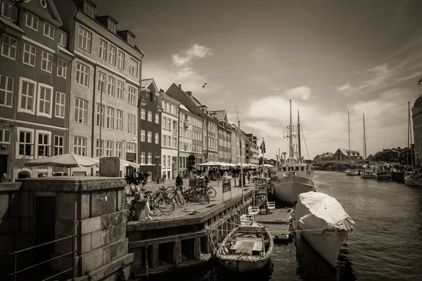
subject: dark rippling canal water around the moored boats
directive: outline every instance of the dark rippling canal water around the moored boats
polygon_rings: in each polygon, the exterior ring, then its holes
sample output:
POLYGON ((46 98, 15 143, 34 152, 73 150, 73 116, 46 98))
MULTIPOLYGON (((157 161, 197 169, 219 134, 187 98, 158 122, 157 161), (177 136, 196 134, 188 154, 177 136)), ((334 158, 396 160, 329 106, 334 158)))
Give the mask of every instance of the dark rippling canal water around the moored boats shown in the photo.
POLYGON ((336 171, 314 171, 314 183, 316 191, 335 197, 355 223, 337 270, 299 240, 276 244, 271 269, 259 275, 231 275, 210 265, 149 280, 421 280, 422 187, 336 171))

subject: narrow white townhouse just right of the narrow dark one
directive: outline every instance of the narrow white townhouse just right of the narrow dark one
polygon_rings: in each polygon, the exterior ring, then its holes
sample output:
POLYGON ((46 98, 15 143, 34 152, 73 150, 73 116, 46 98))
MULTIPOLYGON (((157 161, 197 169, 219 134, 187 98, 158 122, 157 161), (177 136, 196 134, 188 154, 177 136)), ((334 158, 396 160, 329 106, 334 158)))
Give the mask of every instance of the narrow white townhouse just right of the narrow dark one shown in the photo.
MULTIPOLYGON (((160 98, 162 107, 161 174, 170 179, 177 177, 180 103, 174 98, 165 95, 162 90, 160 90, 160 98)), ((155 133, 155 137, 158 138, 158 133, 155 133)))

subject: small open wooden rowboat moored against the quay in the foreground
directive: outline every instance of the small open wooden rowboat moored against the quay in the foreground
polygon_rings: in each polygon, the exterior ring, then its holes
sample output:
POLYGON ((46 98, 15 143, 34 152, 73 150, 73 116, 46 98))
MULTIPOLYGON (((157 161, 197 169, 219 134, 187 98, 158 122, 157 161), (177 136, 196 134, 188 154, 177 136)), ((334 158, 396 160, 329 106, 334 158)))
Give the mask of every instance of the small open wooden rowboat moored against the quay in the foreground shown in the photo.
MULTIPOLYGON (((250 215, 243 215, 245 216, 250 215)), ((253 216, 252 216, 253 217, 253 216)), ((248 273, 264 268, 274 249, 273 237, 264 226, 252 219, 241 219, 217 249, 217 260, 231 272, 248 273)))

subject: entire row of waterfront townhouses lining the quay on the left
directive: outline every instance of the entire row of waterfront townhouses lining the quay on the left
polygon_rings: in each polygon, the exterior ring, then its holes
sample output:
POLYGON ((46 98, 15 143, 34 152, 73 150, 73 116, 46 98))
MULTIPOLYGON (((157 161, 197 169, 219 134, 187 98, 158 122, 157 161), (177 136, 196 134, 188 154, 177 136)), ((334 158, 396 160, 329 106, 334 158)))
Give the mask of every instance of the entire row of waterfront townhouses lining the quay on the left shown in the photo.
POLYGON ((68 152, 135 162, 149 180, 186 174, 190 155, 196 165, 257 164, 256 137, 225 110, 210 111, 181 85, 164 92, 141 79, 143 52, 117 27, 90 0, 1 0, 0 174, 51 175, 60 170, 25 162, 68 152))

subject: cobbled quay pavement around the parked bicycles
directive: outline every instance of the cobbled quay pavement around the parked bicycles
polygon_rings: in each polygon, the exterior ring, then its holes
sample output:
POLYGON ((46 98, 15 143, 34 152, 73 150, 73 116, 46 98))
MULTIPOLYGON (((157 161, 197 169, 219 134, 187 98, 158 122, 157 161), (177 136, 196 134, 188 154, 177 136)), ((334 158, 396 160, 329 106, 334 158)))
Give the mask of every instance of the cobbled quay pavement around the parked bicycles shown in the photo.
MULTIPOLYGON (((164 185, 165 187, 169 187, 172 185, 175 185, 175 180, 166 181, 165 183, 148 183, 146 185, 146 190, 158 190, 158 188, 162 187, 164 185)), ((170 216, 165 216, 161 214, 160 210, 155 209, 153 210, 153 220, 169 220, 173 218, 181 218, 181 217, 188 217, 192 215, 198 215, 203 211, 210 211, 211 209, 217 207, 219 204, 223 202, 223 192, 222 192, 222 183, 219 183, 219 186, 217 186, 217 181, 211 181, 210 187, 215 188, 217 195, 213 198, 210 198, 210 203, 201 205, 199 203, 193 203, 193 202, 186 202, 186 207, 180 208, 177 206, 177 204, 174 204, 174 211, 170 216)), ((188 179, 184 179, 184 187, 188 187, 188 179)), ((247 192, 248 190, 252 189, 252 184, 247 184, 243 188, 243 192, 247 192)), ((234 187, 231 188, 231 192, 224 192, 224 202, 227 200, 230 200, 231 198, 238 197, 242 195, 242 189, 241 187, 234 187)), ((133 199, 133 197, 127 197, 127 201, 130 202, 133 199)), ((142 223, 142 221, 133 221, 132 223, 142 223)))

